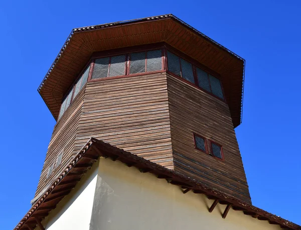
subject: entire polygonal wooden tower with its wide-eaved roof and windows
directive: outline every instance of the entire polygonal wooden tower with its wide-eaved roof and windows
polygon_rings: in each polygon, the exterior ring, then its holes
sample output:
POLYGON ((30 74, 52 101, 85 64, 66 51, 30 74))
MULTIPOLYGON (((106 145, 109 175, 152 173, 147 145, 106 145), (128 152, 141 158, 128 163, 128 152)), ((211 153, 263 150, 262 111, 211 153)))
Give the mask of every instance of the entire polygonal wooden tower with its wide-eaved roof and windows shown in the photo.
POLYGON ((36 196, 91 138, 251 203, 244 60, 173 15, 74 29, 38 91, 57 124, 36 196))

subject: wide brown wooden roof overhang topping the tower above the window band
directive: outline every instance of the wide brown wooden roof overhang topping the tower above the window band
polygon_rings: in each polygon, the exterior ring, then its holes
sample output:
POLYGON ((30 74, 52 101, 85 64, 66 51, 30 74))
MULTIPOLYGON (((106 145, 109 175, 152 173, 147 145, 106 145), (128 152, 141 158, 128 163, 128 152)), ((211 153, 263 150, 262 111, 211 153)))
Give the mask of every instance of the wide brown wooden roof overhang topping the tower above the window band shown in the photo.
POLYGON ((39 93, 57 120, 64 94, 92 54, 166 42, 219 73, 234 127, 241 123, 245 61, 173 15, 73 29, 41 85, 39 93))

